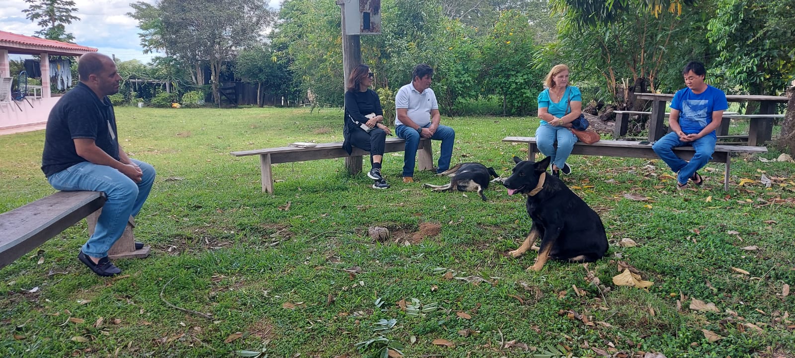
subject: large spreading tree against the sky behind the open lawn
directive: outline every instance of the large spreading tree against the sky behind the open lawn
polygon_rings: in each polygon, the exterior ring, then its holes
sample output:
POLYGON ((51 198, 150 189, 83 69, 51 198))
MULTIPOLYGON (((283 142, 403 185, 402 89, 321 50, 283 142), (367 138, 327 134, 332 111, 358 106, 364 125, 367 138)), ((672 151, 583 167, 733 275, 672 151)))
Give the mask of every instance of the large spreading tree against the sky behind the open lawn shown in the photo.
POLYGON ((198 85, 204 84, 202 63, 207 61, 216 103, 223 63, 260 40, 273 18, 264 0, 160 0, 153 6, 137 2, 133 8, 130 16, 142 25, 142 44, 193 64, 198 85))

